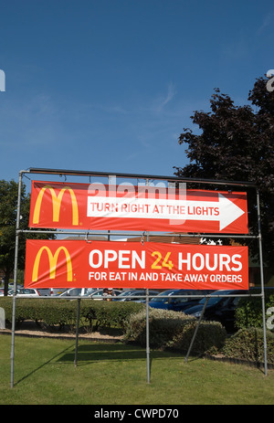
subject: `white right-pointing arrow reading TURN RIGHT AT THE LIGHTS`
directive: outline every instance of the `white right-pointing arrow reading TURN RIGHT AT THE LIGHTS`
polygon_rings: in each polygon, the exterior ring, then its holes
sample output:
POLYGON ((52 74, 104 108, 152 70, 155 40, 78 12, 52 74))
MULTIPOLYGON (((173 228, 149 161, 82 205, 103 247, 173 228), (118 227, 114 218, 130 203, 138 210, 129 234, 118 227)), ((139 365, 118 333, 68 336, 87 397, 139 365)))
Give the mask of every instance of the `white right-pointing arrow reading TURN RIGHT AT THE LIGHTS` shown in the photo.
POLYGON ((185 220, 212 220, 218 221, 222 230, 245 212, 220 193, 218 200, 88 196, 87 216, 169 219, 171 225, 185 220))

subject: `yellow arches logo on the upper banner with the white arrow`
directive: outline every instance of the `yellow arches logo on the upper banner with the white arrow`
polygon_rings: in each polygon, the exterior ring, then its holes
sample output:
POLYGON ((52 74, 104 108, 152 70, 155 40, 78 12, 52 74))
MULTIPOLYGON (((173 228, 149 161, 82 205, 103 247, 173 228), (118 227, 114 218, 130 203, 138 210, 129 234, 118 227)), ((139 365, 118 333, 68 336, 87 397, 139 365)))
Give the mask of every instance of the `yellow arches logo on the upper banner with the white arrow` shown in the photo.
POLYGON ((34 214, 33 214, 33 223, 34 224, 39 223, 39 216, 40 216, 42 198, 45 194, 46 189, 49 189, 49 192, 50 192, 51 198, 52 198, 52 208, 53 208, 53 218, 52 218, 52 220, 53 220, 53 222, 59 221, 60 206, 61 206, 62 198, 64 196, 65 191, 68 190, 68 192, 70 194, 70 198, 71 198, 71 205, 72 205, 72 225, 78 226, 79 225, 78 204, 77 204, 76 196, 75 196, 73 190, 70 188, 70 186, 64 186, 64 188, 62 188, 60 190, 60 192, 58 193, 58 196, 56 195, 56 192, 51 185, 43 186, 43 188, 40 189, 40 192, 37 196, 37 202, 36 202, 36 206, 35 206, 34 214))

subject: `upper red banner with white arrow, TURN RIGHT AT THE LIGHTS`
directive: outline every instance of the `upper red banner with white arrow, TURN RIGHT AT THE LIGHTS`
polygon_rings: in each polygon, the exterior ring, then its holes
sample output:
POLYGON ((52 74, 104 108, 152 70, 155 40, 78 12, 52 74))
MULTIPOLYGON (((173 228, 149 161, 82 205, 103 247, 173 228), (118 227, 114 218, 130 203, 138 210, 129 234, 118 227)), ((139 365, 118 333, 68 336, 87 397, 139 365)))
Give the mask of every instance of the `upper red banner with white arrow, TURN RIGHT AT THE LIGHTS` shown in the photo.
POLYGON ((29 227, 247 234, 247 194, 33 181, 29 227))

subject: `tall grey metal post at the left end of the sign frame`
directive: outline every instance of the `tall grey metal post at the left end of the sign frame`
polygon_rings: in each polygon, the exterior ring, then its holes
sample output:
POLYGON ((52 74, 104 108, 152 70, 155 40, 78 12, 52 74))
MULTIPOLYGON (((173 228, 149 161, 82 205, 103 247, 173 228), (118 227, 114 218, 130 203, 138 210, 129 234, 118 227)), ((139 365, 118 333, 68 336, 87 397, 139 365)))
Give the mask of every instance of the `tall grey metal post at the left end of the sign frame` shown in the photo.
POLYGON ((10 386, 11 387, 14 386, 15 332, 16 332, 16 291, 17 291, 17 264, 18 264, 18 248, 19 248, 21 191, 22 191, 22 172, 19 173, 18 198, 17 198, 17 217, 16 217, 16 249, 15 249, 15 270, 14 270, 12 341, 11 341, 11 354, 10 354, 10 357, 11 357, 11 381, 10 381, 10 386))

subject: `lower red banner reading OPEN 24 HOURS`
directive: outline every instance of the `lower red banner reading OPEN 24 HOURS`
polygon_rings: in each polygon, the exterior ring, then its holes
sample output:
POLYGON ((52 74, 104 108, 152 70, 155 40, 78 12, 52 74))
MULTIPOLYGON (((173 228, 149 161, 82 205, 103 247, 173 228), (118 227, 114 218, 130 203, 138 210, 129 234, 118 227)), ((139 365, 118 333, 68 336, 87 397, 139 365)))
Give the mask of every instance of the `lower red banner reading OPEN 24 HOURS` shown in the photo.
POLYGON ((248 290, 248 247, 28 239, 25 287, 248 290))

